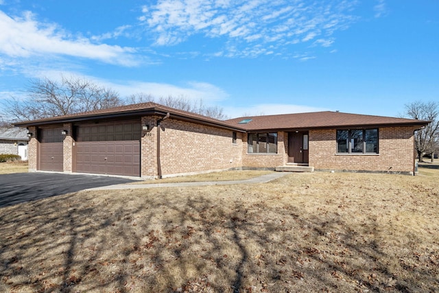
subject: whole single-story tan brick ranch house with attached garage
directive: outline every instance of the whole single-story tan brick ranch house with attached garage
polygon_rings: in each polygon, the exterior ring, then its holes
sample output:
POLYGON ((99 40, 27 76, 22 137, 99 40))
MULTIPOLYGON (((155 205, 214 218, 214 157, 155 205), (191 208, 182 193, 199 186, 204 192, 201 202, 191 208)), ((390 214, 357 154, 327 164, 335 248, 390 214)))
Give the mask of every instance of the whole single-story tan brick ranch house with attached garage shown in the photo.
POLYGON ((29 171, 162 178, 224 169, 414 174, 428 121, 338 112, 220 121, 154 103, 23 121, 29 171))

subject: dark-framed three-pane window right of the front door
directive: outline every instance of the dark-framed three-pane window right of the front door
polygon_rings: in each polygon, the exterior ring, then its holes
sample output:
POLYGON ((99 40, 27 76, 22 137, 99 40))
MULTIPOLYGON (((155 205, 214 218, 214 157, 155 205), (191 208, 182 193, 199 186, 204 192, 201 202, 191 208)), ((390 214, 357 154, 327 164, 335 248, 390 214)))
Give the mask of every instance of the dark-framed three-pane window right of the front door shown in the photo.
POLYGON ((337 153, 378 154, 378 129, 337 130, 337 153))

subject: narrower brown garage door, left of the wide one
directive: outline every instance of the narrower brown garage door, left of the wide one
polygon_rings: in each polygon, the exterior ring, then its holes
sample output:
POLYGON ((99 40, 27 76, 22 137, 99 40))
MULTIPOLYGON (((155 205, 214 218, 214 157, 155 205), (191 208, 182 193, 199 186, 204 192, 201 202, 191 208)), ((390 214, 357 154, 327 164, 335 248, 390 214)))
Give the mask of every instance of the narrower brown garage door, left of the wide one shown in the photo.
POLYGON ((48 128, 38 130, 40 141, 38 154, 38 169, 42 171, 63 171, 62 157, 62 128, 48 128))

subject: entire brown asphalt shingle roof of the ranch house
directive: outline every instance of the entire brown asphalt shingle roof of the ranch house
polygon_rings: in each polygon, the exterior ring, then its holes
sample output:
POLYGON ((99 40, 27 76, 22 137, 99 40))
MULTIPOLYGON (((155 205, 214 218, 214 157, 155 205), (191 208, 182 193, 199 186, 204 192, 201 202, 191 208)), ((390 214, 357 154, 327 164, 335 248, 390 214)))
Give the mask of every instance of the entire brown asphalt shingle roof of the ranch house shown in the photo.
POLYGON ((311 128, 330 128, 330 127, 350 127, 350 126, 424 126, 428 121, 358 115, 340 112, 313 112, 295 113, 283 115, 264 115, 252 117, 239 117, 226 121, 213 119, 203 115, 170 108, 153 102, 119 106, 101 110, 93 110, 85 113, 76 113, 59 117, 38 119, 34 121, 23 121, 16 123, 16 126, 38 126, 49 123, 84 121, 87 119, 106 119, 111 117, 134 116, 134 115, 166 115, 176 119, 190 119, 202 124, 210 124, 218 127, 233 128, 235 130, 292 130, 292 129, 311 129, 311 128), (239 124, 239 121, 251 119, 246 124, 239 124))

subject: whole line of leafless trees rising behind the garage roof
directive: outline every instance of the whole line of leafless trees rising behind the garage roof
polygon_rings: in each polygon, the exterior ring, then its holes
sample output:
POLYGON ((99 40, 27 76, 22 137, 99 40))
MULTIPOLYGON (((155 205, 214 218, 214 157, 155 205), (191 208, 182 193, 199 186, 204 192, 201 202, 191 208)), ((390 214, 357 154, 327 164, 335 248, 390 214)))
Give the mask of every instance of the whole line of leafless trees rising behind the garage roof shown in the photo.
POLYGON ((49 78, 30 80, 27 97, 25 99, 11 97, 3 102, 0 117, 8 117, 7 120, 10 122, 35 120, 141 102, 157 102, 215 119, 228 118, 222 108, 204 106, 202 99, 195 101, 171 95, 156 99, 152 95, 139 93, 123 100, 117 92, 89 80, 64 76, 59 82, 49 78))

